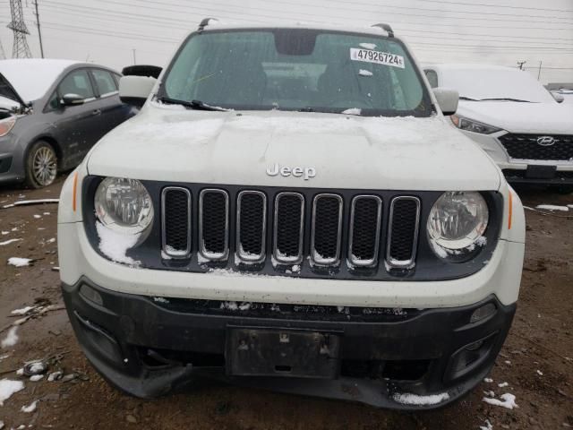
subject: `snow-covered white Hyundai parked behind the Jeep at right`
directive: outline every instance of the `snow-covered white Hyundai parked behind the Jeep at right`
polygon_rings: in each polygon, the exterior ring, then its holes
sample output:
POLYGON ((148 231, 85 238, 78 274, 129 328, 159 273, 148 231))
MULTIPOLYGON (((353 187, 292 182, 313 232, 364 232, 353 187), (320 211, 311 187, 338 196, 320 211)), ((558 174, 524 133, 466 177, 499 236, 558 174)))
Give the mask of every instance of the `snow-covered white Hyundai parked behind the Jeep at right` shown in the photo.
POLYGON ((573 105, 510 67, 432 64, 432 88, 458 90, 452 123, 485 150, 510 183, 573 189, 573 105))

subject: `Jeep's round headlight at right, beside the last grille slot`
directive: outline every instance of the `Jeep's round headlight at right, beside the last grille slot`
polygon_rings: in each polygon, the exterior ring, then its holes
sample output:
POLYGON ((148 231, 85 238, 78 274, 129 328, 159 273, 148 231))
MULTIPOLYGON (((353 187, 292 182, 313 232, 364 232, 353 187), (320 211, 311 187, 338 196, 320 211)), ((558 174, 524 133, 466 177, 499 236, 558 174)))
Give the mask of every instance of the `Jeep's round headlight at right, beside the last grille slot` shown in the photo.
POLYGON ((482 194, 450 191, 434 203, 428 217, 428 236, 441 258, 466 254, 485 245, 489 211, 482 194))

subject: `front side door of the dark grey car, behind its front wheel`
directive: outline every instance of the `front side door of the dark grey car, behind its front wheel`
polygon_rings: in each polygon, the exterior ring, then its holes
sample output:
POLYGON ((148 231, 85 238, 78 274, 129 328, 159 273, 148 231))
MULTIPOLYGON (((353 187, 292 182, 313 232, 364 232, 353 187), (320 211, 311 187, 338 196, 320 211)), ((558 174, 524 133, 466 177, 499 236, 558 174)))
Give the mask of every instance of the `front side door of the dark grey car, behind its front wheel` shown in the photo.
POLYGON ((88 70, 76 69, 66 74, 57 86, 56 97, 52 111, 54 134, 68 154, 69 164, 74 165, 81 161, 86 148, 93 144, 93 133, 98 122, 99 111, 94 105, 96 92, 88 70), (64 106, 61 99, 66 94, 77 94, 83 102, 64 106))

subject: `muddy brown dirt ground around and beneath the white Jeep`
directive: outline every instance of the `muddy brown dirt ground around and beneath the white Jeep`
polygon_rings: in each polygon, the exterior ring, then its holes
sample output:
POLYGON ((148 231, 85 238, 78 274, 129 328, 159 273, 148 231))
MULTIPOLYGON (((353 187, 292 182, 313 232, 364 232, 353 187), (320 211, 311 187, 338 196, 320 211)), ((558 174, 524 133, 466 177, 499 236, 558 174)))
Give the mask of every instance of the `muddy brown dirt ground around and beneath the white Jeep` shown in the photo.
MULTIPOLYGON (((21 199, 56 198, 63 179, 45 190, 0 188, 0 207, 21 199), (25 197, 24 197, 25 196, 25 197)), ((572 204, 573 194, 519 190, 530 207, 572 204)), ((25 382, 0 407, 11 428, 73 429, 559 429, 573 426, 573 211, 526 211, 526 262, 517 316, 492 370, 464 400, 432 412, 397 413, 333 400, 212 385, 161 400, 136 400, 107 386, 73 337, 59 290, 56 204, 0 209, 0 340, 16 321, 14 309, 43 305, 21 324, 19 341, 0 349, 0 379, 25 382), (568 216, 569 213, 569 216, 568 216), (33 258, 15 268, 9 257, 33 258), (24 362, 55 357, 51 370, 77 374, 72 381, 30 382, 15 370, 24 362), (508 383, 500 387, 499 383, 508 383), (516 396, 517 409, 483 402, 483 391, 516 396), (31 413, 22 406, 38 401, 31 413)))

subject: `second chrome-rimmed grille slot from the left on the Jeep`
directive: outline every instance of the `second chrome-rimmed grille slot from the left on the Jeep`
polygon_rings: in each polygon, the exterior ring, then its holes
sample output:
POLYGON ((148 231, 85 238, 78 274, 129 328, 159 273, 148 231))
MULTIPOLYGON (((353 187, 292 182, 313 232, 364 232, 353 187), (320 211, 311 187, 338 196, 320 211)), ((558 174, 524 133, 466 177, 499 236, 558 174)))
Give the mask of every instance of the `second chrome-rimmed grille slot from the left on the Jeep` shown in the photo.
POLYGON ((209 260, 228 257, 229 196, 227 192, 206 189, 199 196, 199 250, 209 260))

